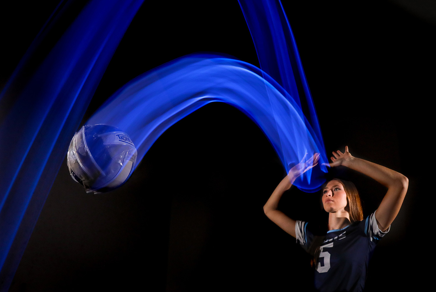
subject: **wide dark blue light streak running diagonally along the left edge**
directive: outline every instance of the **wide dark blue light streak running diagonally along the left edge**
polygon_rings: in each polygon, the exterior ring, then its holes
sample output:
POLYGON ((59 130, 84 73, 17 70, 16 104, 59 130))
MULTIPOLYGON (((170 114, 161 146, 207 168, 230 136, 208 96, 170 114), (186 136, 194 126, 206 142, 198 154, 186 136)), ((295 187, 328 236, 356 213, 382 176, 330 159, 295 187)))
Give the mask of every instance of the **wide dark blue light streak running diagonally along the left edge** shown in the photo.
POLYGON ((48 48, 44 37, 69 3, 60 5, 1 92, 0 291, 9 289, 68 144, 142 2, 92 0, 48 48), (35 60, 37 48, 43 60, 35 60))

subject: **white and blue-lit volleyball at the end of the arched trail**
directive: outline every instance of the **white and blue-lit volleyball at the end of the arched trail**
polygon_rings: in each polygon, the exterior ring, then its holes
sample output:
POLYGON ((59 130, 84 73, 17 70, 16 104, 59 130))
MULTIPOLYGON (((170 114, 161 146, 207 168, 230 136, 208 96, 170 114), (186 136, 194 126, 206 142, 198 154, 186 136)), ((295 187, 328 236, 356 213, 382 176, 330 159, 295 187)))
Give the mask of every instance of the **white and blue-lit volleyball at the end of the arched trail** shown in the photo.
POLYGON ((100 193, 123 185, 132 175, 136 148, 129 135, 106 124, 85 125, 68 148, 72 178, 87 192, 100 193))

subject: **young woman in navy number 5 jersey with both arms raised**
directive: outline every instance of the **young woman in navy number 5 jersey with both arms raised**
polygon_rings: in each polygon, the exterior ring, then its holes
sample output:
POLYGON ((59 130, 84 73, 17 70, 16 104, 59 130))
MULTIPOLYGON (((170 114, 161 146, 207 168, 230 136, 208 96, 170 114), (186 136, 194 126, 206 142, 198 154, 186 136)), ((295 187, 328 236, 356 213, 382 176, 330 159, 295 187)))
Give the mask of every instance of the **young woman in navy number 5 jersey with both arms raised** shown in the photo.
POLYGON ((315 288, 319 291, 362 291, 366 270, 377 242, 390 228, 402 205, 409 180, 384 166, 333 152, 330 167, 344 165, 368 175, 388 188, 377 210, 363 218, 353 183, 333 179, 322 189, 324 210, 329 213, 327 234, 313 235, 310 224, 296 221, 277 209, 284 191, 304 172, 318 164, 319 154, 295 165, 263 207, 272 222, 297 239, 314 256, 315 288))

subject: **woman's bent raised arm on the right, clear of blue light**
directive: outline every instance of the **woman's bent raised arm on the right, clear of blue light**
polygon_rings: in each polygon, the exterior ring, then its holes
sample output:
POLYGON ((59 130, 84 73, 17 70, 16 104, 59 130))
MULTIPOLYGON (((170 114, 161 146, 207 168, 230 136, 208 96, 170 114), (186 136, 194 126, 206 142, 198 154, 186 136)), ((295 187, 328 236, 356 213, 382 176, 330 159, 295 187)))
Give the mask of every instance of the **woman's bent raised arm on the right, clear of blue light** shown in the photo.
POLYGON ((345 152, 333 152, 333 161, 331 167, 344 165, 347 168, 354 169, 375 179, 382 185, 388 188, 385 197, 380 203, 375 213, 378 228, 385 231, 394 221, 400 211, 404 197, 409 186, 409 179, 397 171, 386 168, 384 166, 366 161, 364 159, 353 157, 348 151, 348 146, 345 146, 345 152))

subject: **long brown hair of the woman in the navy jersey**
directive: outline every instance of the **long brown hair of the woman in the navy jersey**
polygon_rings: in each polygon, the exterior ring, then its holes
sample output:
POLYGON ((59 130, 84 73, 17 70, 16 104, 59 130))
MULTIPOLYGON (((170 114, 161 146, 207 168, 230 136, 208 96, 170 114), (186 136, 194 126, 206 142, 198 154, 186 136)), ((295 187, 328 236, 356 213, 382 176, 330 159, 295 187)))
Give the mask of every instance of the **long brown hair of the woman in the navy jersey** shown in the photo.
MULTIPOLYGON (((344 181, 339 178, 334 178, 330 181, 339 181, 344 186, 344 191, 347 194, 347 206, 345 207, 345 211, 350 214, 350 222, 354 223, 356 221, 362 221, 362 203, 356 186, 351 181, 344 181)), ((320 246, 324 242, 324 239, 325 236, 314 236, 312 244, 308 250, 310 254, 313 252, 313 259, 310 260, 310 265, 315 269, 317 268, 318 258, 320 257, 320 246)))

